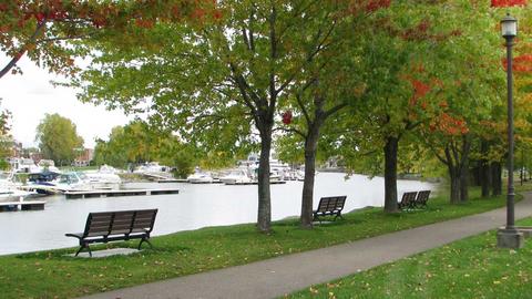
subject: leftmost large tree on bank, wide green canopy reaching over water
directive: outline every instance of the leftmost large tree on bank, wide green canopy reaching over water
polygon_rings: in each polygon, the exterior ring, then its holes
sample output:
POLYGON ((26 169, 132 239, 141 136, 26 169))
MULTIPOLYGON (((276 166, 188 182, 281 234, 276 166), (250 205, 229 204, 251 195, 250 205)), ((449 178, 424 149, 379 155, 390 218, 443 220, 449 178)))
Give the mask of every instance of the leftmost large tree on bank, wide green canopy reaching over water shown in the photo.
MULTIPOLYGON (((315 22, 337 4, 323 1, 223 1, 204 21, 155 25, 136 47, 96 44, 94 68, 82 75, 84 99, 153 117, 197 146, 237 152, 258 143, 257 226, 269 231, 269 156, 277 105, 287 87, 327 44, 315 22), (149 100, 146 102, 146 99, 149 100), (257 138, 258 137, 258 138, 257 138), (223 145, 223 146, 219 146, 223 145)), ((120 44, 119 45, 123 45, 120 44)))

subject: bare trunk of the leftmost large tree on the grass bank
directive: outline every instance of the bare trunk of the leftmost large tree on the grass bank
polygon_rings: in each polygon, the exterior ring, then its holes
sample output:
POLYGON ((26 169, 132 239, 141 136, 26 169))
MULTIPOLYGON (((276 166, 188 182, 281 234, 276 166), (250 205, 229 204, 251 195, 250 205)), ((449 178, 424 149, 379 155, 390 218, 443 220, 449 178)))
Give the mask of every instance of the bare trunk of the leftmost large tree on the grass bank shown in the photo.
POLYGON ((269 193, 269 153, 272 150, 272 127, 260 132, 260 157, 258 161, 258 214, 257 228, 268 233, 272 225, 272 200, 269 193))

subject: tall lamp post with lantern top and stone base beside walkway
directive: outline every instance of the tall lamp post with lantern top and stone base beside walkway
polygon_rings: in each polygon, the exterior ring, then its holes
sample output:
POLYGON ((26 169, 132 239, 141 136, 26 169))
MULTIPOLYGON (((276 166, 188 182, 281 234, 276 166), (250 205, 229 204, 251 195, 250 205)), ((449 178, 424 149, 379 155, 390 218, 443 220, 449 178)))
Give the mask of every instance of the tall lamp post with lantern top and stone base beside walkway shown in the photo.
POLYGON ((502 248, 523 246, 523 234, 515 228, 514 187, 513 187, 513 79, 512 47, 518 35, 518 20, 507 14, 501 20, 502 37, 507 40, 507 83, 508 83, 508 196, 507 225, 497 233, 497 244, 502 248))

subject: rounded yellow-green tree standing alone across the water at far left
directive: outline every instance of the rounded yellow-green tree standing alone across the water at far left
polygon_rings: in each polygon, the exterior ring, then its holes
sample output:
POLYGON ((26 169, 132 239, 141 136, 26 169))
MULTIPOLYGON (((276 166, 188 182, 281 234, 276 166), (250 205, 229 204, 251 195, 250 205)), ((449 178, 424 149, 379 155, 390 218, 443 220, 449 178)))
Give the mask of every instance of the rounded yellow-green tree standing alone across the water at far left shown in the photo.
POLYGON ((75 158, 76 148, 83 146, 75 124, 57 113, 44 115, 37 126, 35 141, 43 157, 53 159, 57 165, 70 164, 75 158))

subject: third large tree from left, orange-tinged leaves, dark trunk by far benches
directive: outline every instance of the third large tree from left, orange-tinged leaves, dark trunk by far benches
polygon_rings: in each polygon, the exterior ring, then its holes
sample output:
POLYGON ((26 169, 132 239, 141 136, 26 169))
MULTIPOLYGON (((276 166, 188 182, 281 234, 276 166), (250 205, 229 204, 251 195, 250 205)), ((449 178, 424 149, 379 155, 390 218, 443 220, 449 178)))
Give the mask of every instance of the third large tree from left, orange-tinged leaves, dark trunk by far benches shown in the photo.
MULTIPOLYGON (((438 70, 448 64, 446 51, 463 39, 459 30, 468 28, 449 25, 463 13, 462 8, 442 13, 439 3, 392 3, 389 11, 380 25, 372 28, 360 56, 366 91, 362 104, 350 111, 357 115, 352 130, 360 133, 342 141, 354 143, 349 167, 360 169, 358 165, 365 162, 360 171, 383 172, 385 212, 396 213, 400 142, 410 142, 429 120, 429 109, 438 106, 433 103, 442 84, 438 70)), ((346 157, 346 152, 341 153, 346 157)))

